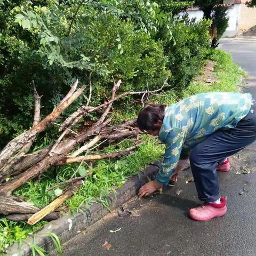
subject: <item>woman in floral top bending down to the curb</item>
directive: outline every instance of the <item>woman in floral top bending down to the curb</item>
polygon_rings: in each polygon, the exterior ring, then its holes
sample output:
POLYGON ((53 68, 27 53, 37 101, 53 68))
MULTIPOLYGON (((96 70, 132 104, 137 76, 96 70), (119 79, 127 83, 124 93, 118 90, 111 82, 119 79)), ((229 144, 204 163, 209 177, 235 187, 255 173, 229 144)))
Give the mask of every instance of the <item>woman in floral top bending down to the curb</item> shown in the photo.
POLYGON ((227 157, 256 140, 254 107, 249 93, 214 92, 193 95, 170 107, 143 108, 137 120, 140 130, 158 135, 166 148, 156 179, 142 186, 139 196, 177 180, 189 159, 198 198, 204 202, 189 210, 190 218, 205 221, 225 215, 217 170, 228 171, 227 157))

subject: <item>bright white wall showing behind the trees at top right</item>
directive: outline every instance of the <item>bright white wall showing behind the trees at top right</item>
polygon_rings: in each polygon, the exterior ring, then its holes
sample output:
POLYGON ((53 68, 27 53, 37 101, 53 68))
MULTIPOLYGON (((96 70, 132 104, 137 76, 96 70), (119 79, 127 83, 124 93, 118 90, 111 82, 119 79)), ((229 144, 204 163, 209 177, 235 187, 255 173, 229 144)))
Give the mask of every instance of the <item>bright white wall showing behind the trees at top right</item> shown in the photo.
MULTIPOLYGON (((239 16, 241 11, 241 4, 233 4, 228 9, 228 28, 222 37, 235 37, 237 34, 239 16)), ((196 20, 201 20, 203 18, 203 11, 199 9, 188 9, 186 11, 189 15, 189 18, 196 18, 196 20)), ((186 12, 181 12, 180 15, 185 14, 186 12)))

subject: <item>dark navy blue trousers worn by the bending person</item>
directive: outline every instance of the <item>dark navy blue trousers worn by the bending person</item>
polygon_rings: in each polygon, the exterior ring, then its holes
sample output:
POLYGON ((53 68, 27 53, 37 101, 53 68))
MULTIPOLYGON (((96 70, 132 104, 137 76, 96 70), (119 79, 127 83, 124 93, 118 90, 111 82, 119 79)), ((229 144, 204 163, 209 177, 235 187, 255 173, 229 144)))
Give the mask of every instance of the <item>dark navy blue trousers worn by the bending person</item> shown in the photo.
POLYGON ((218 130, 191 150, 189 161, 198 193, 204 202, 220 198, 216 167, 256 140, 256 104, 234 129, 218 130))

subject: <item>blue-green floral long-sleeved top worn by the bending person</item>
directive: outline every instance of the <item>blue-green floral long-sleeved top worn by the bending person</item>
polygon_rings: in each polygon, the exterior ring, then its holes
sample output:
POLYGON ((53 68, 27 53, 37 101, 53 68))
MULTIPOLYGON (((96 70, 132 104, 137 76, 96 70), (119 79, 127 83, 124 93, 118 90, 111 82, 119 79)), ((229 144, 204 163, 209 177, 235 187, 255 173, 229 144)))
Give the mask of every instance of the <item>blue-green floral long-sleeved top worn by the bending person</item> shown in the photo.
POLYGON ((168 185, 179 159, 186 159, 198 143, 218 129, 230 129, 249 113, 249 93, 213 92, 193 95, 165 108, 159 140, 164 161, 156 180, 168 185))

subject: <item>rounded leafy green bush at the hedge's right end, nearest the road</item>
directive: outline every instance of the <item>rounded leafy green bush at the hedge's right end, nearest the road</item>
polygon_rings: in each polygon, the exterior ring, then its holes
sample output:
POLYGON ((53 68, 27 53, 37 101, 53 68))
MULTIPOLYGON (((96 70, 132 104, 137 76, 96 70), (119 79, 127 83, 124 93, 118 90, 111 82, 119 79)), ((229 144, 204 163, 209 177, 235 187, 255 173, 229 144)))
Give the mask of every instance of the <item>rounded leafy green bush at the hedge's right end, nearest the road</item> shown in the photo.
POLYGON ((186 89, 205 62, 210 44, 209 26, 210 21, 206 20, 177 21, 172 28, 175 44, 164 41, 167 68, 172 73, 169 83, 178 92, 186 89))

